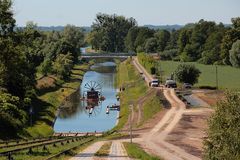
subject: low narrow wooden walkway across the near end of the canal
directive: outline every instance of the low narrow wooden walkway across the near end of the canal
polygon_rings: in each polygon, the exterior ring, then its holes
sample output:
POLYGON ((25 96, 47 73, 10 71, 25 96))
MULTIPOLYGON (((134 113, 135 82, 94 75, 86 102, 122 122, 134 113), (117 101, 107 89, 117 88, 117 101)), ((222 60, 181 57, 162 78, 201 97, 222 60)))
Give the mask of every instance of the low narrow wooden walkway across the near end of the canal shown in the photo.
POLYGON ((56 137, 102 136, 104 132, 55 132, 56 137))

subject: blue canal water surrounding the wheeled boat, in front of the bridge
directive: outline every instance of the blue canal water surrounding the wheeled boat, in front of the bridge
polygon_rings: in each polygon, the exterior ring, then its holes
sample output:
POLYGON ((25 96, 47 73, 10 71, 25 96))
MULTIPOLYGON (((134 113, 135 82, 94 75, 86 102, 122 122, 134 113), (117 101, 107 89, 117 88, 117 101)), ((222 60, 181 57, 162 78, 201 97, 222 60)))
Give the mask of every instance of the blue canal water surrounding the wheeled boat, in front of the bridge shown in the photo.
MULTIPOLYGON (((79 91, 74 93, 60 107, 54 124, 55 132, 101 132, 112 129, 117 122, 117 111, 106 114, 106 106, 119 104, 116 99, 116 65, 113 62, 97 63, 84 74, 79 91), (106 98, 98 103, 92 114, 86 109, 86 102, 80 100, 86 92, 85 84, 97 82, 101 85, 102 95, 106 98)), ((79 82, 80 83, 80 82, 79 82)))

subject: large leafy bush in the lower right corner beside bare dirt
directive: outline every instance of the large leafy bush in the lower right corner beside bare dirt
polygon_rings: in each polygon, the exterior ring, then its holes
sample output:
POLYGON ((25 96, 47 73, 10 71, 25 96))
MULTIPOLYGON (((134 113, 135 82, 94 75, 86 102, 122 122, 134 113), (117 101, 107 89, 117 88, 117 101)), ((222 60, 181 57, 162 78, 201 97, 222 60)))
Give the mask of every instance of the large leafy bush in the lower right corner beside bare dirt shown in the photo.
POLYGON ((208 122, 204 159, 240 159, 240 93, 227 92, 208 122))

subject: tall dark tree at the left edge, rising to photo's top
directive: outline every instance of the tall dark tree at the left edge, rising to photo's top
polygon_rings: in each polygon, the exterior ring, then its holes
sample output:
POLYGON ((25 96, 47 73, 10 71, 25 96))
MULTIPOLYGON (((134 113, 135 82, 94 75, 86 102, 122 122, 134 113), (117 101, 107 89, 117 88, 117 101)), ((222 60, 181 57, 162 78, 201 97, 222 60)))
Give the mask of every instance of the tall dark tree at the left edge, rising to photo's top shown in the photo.
POLYGON ((27 89, 34 85, 34 74, 21 43, 14 31, 15 20, 10 0, 0 1, 0 86, 13 96, 24 99, 27 89))

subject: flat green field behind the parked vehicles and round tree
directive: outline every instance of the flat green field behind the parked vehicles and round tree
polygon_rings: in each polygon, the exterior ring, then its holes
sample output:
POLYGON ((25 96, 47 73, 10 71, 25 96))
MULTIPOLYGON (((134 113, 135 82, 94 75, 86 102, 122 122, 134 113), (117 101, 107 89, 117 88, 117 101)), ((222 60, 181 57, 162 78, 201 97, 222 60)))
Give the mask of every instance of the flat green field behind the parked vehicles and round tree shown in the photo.
MULTIPOLYGON (((161 61, 164 79, 169 77, 175 71, 181 62, 161 61)), ((216 66, 203 65, 196 62, 194 64, 202 73, 196 86, 216 86, 216 66)), ((240 69, 230 66, 217 66, 218 85, 220 89, 240 89, 240 69)))

